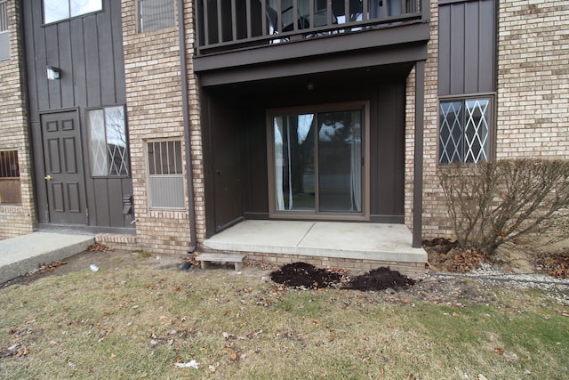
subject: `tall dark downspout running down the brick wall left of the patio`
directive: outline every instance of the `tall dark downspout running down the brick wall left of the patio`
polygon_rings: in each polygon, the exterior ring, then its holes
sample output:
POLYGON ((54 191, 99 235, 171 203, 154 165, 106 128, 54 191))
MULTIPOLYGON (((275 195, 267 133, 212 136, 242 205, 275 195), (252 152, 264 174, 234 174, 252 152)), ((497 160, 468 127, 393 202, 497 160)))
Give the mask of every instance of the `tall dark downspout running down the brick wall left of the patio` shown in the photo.
POLYGON ((184 144, 186 145, 186 178, 188 180, 189 236, 188 255, 197 247, 196 203, 194 201, 194 173, 192 171, 191 142, 189 133, 188 62, 186 59, 186 24, 184 22, 184 0, 178 0, 178 37, 180 44, 181 109, 184 123, 184 144))

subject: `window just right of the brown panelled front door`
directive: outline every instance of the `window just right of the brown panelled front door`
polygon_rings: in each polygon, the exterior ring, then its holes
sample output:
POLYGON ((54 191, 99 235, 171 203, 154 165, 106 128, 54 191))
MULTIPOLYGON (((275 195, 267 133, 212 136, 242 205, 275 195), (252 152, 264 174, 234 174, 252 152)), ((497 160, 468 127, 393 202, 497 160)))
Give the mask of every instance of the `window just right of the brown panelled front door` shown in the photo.
POLYGON ((92 176, 128 175, 124 107, 88 110, 87 127, 92 176))

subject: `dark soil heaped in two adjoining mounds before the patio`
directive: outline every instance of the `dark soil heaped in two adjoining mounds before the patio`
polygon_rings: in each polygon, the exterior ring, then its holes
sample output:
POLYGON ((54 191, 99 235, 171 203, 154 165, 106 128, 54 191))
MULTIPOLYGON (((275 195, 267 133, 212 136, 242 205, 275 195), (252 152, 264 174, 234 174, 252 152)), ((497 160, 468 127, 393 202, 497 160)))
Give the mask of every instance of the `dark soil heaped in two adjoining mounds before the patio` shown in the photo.
POLYGON ((280 270, 273 271, 270 278, 287 287, 343 287, 356 290, 382 290, 407 287, 415 284, 413 279, 403 276, 398 271, 378 268, 373 271, 349 278, 341 273, 318 269, 309 263, 290 263, 280 270))

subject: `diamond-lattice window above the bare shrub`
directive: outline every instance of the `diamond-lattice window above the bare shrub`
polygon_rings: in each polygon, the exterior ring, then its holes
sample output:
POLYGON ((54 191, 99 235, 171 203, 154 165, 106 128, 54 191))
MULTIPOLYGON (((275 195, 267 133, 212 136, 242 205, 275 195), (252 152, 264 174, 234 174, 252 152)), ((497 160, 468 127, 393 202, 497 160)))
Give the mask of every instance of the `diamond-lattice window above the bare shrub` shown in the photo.
POLYGON ((488 160, 491 110, 491 97, 440 101, 439 164, 488 160))

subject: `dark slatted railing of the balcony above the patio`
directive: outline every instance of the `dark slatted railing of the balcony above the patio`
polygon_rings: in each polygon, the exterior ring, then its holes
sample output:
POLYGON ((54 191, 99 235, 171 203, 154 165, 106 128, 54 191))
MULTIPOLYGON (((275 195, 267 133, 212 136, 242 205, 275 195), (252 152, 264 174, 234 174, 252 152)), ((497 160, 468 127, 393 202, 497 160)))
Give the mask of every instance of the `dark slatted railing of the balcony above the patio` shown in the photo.
POLYGON ((197 0, 197 54, 421 19, 421 0, 197 0))

